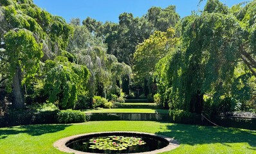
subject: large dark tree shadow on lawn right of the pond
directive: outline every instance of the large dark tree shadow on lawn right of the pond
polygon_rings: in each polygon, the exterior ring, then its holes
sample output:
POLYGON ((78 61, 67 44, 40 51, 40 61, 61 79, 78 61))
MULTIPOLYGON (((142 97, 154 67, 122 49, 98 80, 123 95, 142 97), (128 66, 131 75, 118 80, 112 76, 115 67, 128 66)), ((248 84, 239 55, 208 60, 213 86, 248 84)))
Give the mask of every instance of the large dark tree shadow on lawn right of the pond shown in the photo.
POLYGON ((256 131, 188 124, 171 124, 167 129, 168 132, 158 132, 158 134, 174 137, 181 144, 221 143, 230 146, 228 143, 248 142, 250 149, 256 150, 256 131))

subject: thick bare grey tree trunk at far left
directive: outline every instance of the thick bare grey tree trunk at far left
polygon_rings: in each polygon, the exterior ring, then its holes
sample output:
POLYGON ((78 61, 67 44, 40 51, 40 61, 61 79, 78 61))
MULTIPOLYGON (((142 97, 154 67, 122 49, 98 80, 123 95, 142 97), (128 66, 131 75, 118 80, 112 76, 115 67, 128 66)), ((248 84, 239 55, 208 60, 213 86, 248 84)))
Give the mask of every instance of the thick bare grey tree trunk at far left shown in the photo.
POLYGON ((12 79, 12 83, 14 86, 14 108, 23 108, 24 107, 24 91, 21 86, 21 67, 17 66, 15 69, 15 73, 12 79))

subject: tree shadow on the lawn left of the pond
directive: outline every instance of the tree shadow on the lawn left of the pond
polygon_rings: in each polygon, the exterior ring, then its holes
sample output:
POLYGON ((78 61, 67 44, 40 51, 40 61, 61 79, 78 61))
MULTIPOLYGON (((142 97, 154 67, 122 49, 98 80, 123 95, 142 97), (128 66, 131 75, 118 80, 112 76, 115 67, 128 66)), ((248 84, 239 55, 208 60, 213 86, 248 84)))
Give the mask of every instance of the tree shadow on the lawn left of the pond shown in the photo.
POLYGON ((45 133, 55 133, 64 130, 71 124, 37 124, 26 126, 15 126, 5 129, 0 129, 0 139, 5 139, 8 135, 19 133, 28 133, 28 135, 39 136, 45 133))

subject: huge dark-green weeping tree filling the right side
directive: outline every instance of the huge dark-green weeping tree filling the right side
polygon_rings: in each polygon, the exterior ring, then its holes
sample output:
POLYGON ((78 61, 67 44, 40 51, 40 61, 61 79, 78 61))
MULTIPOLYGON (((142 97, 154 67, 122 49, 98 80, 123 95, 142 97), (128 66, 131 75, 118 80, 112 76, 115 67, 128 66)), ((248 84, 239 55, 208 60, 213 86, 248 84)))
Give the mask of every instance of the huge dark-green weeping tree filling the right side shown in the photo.
POLYGON ((255 10, 255 1, 236 8, 243 17, 209 0, 201 15, 190 15, 181 22, 181 46, 161 59, 156 71, 161 97, 169 101, 170 108, 201 113, 206 99, 212 103, 251 99, 235 97, 239 90, 253 96, 253 86, 244 78, 255 80, 255 50, 250 46, 255 27, 250 21, 255 22, 251 20, 255 12, 249 11, 255 10))

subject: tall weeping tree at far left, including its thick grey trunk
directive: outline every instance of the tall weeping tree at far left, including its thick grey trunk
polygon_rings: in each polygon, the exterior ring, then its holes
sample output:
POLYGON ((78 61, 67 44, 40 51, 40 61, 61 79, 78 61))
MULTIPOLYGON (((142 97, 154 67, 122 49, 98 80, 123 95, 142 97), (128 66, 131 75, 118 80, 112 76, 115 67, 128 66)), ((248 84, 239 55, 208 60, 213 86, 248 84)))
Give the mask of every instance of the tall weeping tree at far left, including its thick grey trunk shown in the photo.
POLYGON ((9 92, 13 90, 14 107, 22 108, 24 87, 37 84, 40 62, 62 54, 72 29, 64 19, 41 10, 30 0, 0 1, 0 21, 0 74, 8 80, 5 87, 9 92))

